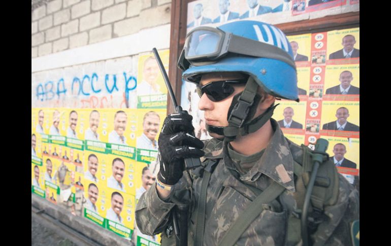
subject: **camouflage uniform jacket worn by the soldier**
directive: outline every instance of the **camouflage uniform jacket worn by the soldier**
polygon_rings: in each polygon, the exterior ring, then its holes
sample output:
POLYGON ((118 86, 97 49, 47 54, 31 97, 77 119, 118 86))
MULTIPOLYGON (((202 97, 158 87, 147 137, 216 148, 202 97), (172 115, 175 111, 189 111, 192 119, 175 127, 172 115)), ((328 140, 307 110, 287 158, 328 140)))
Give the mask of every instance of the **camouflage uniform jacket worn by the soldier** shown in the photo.
MULTIPOLYGON (((237 220, 256 195, 245 185, 265 190, 272 182, 278 182, 285 191, 271 202, 262 204, 263 212, 256 218, 237 241, 237 245, 301 245, 301 242, 287 240, 289 215, 296 210, 294 159, 301 163, 303 150, 284 137, 273 119, 274 135, 264 154, 254 166, 237 180, 229 170, 236 170, 227 155, 227 145, 216 139, 205 142, 206 154, 201 160, 220 158, 212 172, 207 188, 206 220, 203 245, 217 245, 224 233, 237 220), (244 184, 245 183, 245 184, 244 184)), ((193 171, 184 172, 170 196, 164 201, 151 187, 145 192, 136 207, 136 221, 139 229, 148 235, 165 231, 174 203, 185 187, 190 190, 190 215, 188 220, 188 245, 193 245, 196 231, 198 199, 202 177, 193 171)), ((325 220, 311 234, 314 245, 350 245, 349 222, 359 219, 359 193, 339 174, 339 194, 336 204, 324 208, 325 220)))

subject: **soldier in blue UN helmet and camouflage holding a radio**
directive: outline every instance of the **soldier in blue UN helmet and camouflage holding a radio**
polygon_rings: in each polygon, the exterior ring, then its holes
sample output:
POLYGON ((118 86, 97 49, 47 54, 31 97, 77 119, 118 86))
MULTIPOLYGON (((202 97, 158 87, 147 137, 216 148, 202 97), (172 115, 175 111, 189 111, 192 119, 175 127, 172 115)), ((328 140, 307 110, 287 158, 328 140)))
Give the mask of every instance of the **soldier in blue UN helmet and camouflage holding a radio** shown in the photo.
MULTIPOLYGON (((271 118, 276 98, 299 100, 284 33, 258 21, 197 27, 187 34, 178 66, 185 81, 197 84, 199 109, 213 138, 193 137, 192 117, 184 111, 165 119, 157 180, 136 207, 140 231, 162 232, 162 244, 170 244, 173 208, 181 201, 190 204, 189 245, 302 244, 300 213, 308 184, 303 177, 310 150, 285 138, 271 118), (202 167, 184 171, 188 157, 201 157, 202 167), (252 204, 262 213, 243 216, 252 204), (243 220, 247 225, 238 229, 243 220)), ((312 220, 304 227, 310 236, 304 238, 316 245, 349 245, 347 225, 359 217, 358 192, 334 163, 322 166, 334 173, 327 193, 333 198, 320 204, 311 199, 312 220)))

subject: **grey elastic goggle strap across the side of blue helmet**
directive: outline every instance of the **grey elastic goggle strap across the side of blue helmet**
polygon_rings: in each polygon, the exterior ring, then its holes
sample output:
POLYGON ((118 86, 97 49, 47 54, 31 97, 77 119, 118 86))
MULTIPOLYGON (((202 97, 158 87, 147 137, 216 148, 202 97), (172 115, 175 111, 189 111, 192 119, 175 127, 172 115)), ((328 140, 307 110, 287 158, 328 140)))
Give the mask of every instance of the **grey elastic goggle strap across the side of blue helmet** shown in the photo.
POLYGON ((295 68, 296 64, 292 57, 283 49, 267 43, 246 39, 240 36, 232 35, 228 52, 243 54, 256 57, 277 59, 289 64, 295 68))

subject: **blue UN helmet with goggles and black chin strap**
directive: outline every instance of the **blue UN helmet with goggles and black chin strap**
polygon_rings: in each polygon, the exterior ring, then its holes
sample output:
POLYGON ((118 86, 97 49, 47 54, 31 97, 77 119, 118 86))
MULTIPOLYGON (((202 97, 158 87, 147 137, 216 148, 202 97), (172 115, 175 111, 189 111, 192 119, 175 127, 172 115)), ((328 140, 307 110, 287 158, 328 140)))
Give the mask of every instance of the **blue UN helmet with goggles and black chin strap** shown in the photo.
POLYGON ((239 132, 254 132, 272 116, 275 106, 251 120, 259 100, 258 86, 277 98, 299 101, 289 41, 280 29, 264 22, 236 21, 217 28, 194 28, 186 36, 178 67, 184 71, 184 80, 196 84, 208 73, 238 72, 249 76, 243 93, 233 99, 227 116, 229 126, 209 127, 231 140, 239 132))

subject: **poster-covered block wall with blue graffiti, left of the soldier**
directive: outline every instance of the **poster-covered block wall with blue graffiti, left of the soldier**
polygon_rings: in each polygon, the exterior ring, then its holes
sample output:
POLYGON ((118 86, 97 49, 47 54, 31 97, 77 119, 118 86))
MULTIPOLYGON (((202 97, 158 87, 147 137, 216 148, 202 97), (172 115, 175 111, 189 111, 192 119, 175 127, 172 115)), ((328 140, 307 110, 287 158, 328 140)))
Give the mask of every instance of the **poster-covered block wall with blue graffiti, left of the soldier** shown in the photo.
POLYGON ((151 50, 168 71, 170 17, 167 0, 55 0, 31 11, 31 192, 135 245, 159 244, 134 212, 145 173, 158 171, 167 90, 151 50))

